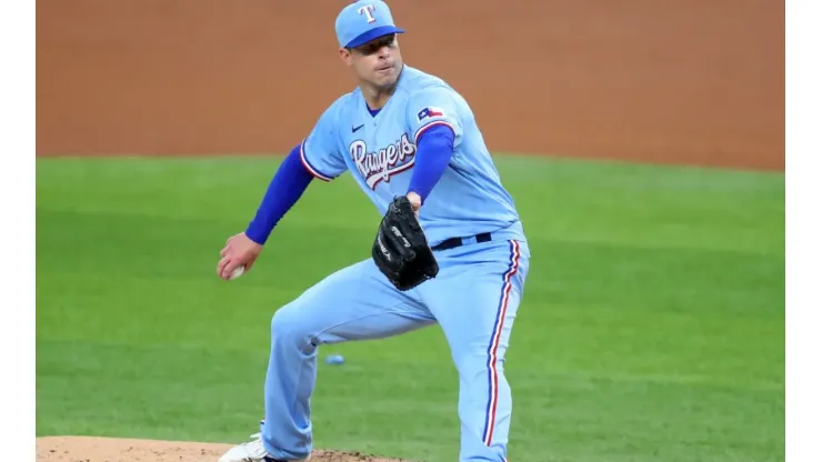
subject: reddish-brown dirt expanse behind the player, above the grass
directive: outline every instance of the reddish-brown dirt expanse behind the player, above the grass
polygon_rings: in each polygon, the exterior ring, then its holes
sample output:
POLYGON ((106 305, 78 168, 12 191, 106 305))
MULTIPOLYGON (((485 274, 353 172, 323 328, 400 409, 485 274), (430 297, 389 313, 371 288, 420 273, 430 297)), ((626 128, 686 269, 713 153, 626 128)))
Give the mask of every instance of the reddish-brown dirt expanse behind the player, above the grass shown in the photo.
MULTIPOLYGON (((283 152, 353 84, 344 3, 40 0, 38 154, 283 152)), ((390 4, 492 150, 784 168, 784 2, 390 4)))

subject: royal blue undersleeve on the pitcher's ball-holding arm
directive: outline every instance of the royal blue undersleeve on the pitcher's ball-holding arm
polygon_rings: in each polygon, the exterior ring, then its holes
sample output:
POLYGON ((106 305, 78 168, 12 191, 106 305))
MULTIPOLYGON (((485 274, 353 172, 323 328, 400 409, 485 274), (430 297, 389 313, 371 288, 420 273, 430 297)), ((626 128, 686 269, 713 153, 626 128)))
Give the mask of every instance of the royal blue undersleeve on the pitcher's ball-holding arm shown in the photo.
POLYGON ((249 223, 245 235, 262 245, 277 223, 297 203, 313 175, 300 161, 300 147, 295 147, 283 160, 265 190, 265 195, 249 223))

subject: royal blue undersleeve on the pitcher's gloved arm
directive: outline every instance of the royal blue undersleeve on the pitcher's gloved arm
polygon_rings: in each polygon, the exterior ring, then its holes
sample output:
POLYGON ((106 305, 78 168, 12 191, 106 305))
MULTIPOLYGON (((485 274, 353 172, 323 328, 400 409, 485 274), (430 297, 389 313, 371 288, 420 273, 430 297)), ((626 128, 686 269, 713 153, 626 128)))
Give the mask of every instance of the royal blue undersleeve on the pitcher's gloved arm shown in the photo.
POLYGON ((414 169, 408 192, 425 199, 445 172, 454 152, 454 132, 447 125, 437 125, 420 135, 417 142, 414 169))

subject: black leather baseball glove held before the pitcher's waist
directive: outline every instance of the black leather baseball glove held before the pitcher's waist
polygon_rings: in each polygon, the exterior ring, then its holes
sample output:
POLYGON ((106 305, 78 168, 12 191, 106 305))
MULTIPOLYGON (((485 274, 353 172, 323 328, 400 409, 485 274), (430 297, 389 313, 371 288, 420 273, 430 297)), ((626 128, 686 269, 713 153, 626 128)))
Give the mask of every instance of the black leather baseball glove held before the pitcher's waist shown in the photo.
POLYGON ((440 271, 411 202, 404 195, 394 198, 389 204, 377 230, 371 255, 385 278, 401 291, 435 278, 440 271))

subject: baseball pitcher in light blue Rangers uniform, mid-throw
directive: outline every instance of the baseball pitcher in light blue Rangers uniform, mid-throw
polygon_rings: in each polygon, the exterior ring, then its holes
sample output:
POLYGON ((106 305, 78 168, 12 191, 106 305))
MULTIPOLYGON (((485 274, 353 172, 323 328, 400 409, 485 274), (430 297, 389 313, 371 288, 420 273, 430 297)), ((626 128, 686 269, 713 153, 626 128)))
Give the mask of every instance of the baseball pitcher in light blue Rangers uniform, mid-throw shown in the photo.
POLYGON ((221 462, 307 461, 318 346, 438 324, 460 375, 460 461, 505 461, 511 390, 503 362, 529 247, 465 100, 402 61, 389 7, 348 4, 337 18, 357 88, 333 101, 274 173, 217 273, 250 271, 313 179, 350 172, 377 207, 371 255, 282 307, 271 322, 264 415, 221 462))

